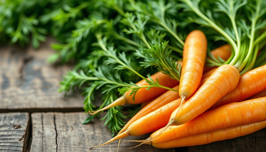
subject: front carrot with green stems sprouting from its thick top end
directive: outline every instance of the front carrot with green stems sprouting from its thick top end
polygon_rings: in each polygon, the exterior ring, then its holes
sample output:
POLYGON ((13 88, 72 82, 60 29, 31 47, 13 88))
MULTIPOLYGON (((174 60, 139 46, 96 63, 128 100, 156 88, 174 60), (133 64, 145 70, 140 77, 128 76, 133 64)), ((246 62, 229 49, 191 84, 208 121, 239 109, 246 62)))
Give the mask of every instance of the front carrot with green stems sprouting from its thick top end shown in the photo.
POLYGON ((208 110, 238 84, 239 72, 235 66, 219 66, 197 92, 176 109, 167 126, 184 124, 208 110))

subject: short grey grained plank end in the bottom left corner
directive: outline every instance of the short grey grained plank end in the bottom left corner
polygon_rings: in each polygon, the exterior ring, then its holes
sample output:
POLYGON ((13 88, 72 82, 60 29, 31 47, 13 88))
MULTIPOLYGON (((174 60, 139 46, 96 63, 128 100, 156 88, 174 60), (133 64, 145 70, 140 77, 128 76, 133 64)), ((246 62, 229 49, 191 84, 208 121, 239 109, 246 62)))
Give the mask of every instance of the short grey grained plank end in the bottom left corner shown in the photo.
POLYGON ((25 152, 29 137, 29 113, 0 113, 0 152, 25 152))

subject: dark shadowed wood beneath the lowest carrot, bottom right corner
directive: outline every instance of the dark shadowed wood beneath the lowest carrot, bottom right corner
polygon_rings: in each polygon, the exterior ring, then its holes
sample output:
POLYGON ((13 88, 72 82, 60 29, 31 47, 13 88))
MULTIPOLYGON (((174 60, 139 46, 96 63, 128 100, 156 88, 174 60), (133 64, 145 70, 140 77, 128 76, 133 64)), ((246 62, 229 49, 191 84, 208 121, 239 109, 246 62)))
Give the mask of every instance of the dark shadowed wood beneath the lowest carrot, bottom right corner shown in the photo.
POLYGON ((266 151, 266 128, 248 134, 246 136, 210 143, 207 145, 198 145, 186 147, 187 152, 262 152, 266 151))

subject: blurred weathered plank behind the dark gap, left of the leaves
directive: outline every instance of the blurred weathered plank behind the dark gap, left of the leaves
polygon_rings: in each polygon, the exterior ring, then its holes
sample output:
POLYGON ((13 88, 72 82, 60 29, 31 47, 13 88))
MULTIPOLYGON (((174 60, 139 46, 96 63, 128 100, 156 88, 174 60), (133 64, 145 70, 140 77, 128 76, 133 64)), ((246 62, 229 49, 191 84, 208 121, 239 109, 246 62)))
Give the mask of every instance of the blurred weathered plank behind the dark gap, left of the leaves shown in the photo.
POLYGON ((54 53, 53 40, 31 47, 0 47, 0 112, 82 111, 80 93, 58 93, 62 75, 71 65, 52 65, 47 58, 54 53))

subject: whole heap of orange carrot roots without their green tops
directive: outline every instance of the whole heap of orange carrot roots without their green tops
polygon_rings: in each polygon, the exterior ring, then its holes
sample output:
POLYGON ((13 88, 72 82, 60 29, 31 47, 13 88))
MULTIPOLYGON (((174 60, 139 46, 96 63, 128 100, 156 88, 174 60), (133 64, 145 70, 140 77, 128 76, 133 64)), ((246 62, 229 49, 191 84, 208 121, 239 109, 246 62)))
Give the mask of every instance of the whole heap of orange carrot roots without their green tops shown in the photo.
MULTIPOLYGON (((232 139, 266 127, 266 64, 241 73, 241 64, 205 65, 207 39, 200 30, 191 31, 183 47, 180 82, 157 72, 151 78, 175 91, 162 88, 139 90, 132 100, 127 92, 111 105, 143 103, 114 140, 153 132, 146 140, 133 141, 156 148, 202 145, 232 139), (161 94, 154 99, 156 95, 161 94), (145 97, 145 98, 144 98, 145 97), (147 102, 150 99, 152 101, 147 102), (237 109, 237 110, 236 110, 237 109)), ((235 52, 231 45, 210 51, 214 58, 228 60, 235 52)), ((242 66, 242 65, 241 65, 242 66)), ((138 85, 147 85, 140 81, 138 85)), ((97 145, 97 146, 101 146, 97 145)))

